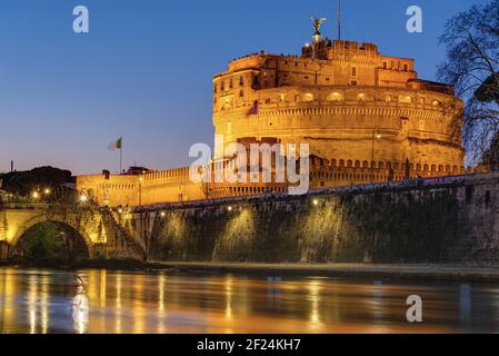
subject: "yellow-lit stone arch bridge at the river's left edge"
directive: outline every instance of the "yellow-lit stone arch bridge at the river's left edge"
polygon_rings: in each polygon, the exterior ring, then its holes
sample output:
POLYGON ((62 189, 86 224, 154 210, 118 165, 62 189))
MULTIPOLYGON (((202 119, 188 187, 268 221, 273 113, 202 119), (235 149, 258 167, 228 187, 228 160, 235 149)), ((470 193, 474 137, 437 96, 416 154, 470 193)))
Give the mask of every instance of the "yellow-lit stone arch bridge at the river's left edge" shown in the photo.
POLYGON ((8 204, 0 206, 0 260, 9 259, 23 235, 41 222, 57 225, 77 233, 90 259, 139 259, 147 256, 144 219, 133 219, 124 227, 123 214, 88 206, 48 206, 42 204, 8 204))

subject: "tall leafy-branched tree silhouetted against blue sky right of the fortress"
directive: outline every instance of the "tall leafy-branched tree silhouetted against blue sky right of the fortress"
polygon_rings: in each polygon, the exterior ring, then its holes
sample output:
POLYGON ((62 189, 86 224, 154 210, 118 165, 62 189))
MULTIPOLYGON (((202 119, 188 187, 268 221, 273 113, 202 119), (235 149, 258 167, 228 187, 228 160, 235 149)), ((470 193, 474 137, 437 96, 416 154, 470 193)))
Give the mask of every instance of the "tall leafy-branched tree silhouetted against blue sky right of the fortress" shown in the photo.
POLYGON ((469 158, 477 162, 487 157, 489 164, 490 159, 497 162, 499 0, 473 6, 451 18, 440 43, 446 46, 447 60, 439 67, 439 77, 453 85, 466 102, 462 132, 469 158))

